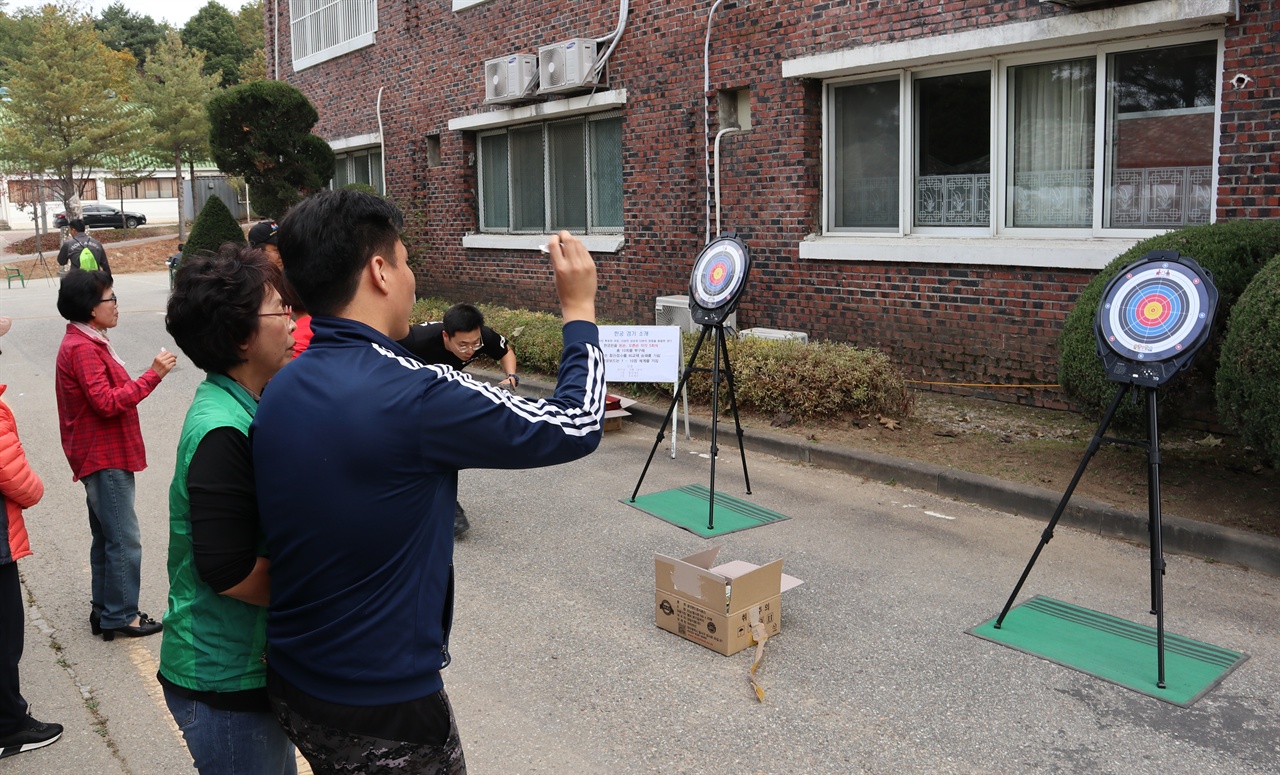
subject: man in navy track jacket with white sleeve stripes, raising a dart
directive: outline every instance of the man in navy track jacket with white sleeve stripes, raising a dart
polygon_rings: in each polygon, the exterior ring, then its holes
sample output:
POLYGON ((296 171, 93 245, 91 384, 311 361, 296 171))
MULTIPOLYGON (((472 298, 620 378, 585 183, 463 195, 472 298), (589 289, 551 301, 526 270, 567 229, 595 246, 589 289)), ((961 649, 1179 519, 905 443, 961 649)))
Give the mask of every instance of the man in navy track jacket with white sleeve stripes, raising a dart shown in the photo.
POLYGON ((397 345, 415 290, 401 228, 385 200, 329 191, 278 236, 315 338, 271 380, 252 428, 271 561, 268 692, 316 771, 466 771, 440 679, 457 471, 576 460, 604 416, 595 264, 579 240, 548 238, 564 351, 554 397, 532 401, 397 345))

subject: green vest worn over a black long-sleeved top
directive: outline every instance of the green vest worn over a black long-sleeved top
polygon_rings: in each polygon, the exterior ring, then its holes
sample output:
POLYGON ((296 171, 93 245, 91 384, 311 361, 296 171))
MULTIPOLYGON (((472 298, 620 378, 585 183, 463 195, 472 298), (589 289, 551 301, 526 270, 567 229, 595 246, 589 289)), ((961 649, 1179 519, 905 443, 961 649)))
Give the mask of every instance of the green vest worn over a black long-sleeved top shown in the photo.
MULTIPOLYGON (((209 374, 196 388, 178 441, 169 485, 169 610, 160 671, 196 692, 239 692, 266 685, 266 608, 219 594, 200 580, 191 546, 187 469, 205 434, 238 428, 248 434, 257 402, 234 379, 209 374)), ((265 550, 260 539, 259 551, 265 550)))

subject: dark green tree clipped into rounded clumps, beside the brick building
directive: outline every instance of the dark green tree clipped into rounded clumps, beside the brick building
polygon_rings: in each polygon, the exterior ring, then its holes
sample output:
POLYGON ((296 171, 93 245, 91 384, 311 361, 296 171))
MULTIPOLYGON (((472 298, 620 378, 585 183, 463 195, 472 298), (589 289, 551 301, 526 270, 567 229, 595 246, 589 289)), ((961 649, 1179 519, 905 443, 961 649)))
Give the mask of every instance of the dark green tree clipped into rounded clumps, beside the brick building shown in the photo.
POLYGON ((242 175, 253 209, 279 218, 333 177, 329 143, 306 95, 280 81, 253 81, 209 100, 209 145, 218 168, 242 175))

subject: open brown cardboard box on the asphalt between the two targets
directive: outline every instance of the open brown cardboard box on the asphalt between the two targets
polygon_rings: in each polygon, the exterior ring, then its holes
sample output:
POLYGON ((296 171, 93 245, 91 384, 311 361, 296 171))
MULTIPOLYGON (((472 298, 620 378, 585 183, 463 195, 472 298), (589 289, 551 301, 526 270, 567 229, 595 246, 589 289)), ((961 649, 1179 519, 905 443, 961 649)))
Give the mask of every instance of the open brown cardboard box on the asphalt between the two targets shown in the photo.
POLYGON ((804 582, 782 573, 782 560, 713 566, 719 548, 682 560, 655 555, 655 616, 668 633, 730 656, 755 643, 753 616, 769 638, 782 632, 782 593, 804 582))

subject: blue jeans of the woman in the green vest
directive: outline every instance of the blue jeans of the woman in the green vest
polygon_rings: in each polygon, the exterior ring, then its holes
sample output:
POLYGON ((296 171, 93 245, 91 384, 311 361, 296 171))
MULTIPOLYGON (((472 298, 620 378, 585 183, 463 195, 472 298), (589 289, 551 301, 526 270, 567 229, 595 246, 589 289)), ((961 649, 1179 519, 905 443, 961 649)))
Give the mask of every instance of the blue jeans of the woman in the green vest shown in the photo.
POLYGON ((220 711, 164 690, 200 775, 297 775, 293 743, 270 712, 220 711))

